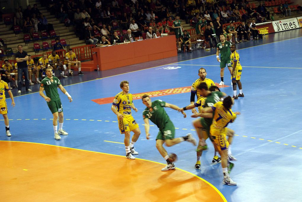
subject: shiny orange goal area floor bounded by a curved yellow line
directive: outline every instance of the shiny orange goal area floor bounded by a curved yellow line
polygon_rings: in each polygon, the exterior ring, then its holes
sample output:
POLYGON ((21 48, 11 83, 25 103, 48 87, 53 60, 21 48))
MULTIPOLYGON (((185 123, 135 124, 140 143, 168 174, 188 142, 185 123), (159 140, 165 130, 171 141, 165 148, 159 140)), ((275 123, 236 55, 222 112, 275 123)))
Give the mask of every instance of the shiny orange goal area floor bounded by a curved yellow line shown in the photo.
POLYGON ((143 159, 0 141, 1 201, 226 201, 208 182, 143 159))

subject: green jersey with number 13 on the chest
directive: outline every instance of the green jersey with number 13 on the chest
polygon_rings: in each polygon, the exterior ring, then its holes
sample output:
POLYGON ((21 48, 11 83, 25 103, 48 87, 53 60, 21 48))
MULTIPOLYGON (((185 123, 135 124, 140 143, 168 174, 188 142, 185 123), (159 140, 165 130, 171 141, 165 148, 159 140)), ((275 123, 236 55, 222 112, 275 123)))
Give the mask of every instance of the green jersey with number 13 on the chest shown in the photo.
POLYGON ((51 99, 51 101, 57 101, 60 99, 57 87, 61 85, 58 77, 54 77, 52 79, 45 77, 41 81, 40 87, 43 87, 46 93, 46 96, 51 99))

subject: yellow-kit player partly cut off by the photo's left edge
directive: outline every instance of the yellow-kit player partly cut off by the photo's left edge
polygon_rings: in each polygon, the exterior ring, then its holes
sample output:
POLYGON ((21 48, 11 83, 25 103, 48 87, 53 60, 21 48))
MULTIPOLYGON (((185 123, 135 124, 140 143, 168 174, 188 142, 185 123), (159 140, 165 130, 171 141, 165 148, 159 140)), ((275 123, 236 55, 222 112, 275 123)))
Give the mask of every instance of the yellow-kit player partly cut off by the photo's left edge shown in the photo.
POLYGON ((8 116, 7 116, 7 104, 5 101, 5 91, 8 92, 8 95, 11 98, 11 105, 14 107, 15 102, 14 102, 13 93, 11 93, 11 88, 8 86, 8 84, 6 82, 1 80, 1 75, 0 75, 0 113, 2 114, 3 119, 4 119, 6 136, 10 137, 11 132, 9 131, 9 120, 8 120, 8 116))

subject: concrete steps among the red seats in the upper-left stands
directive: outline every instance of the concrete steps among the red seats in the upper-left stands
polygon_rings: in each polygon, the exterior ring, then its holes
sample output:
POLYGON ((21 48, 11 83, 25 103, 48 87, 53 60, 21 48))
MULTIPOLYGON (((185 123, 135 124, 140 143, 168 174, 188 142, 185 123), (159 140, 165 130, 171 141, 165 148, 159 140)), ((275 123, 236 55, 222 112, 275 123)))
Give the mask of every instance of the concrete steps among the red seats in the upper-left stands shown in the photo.
MULTIPOLYGON (((55 15, 51 15, 50 12, 47 11, 46 7, 42 7, 40 1, 38 0, 29 0, 29 5, 33 6, 37 4, 40 12, 46 16, 48 23, 53 24, 53 28, 57 35, 59 35, 60 39, 65 39, 68 44, 70 44, 70 48, 77 47, 77 46, 84 46, 86 45, 85 40, 79 40, 76 36, 74 29, 72 26, 66 27, 65 24, 60 23, 58 19, 56 19, 55 15), (70 42, 70 43, 69 43, 70 42)), ((38 40, 35 42, 24 43, 24 33, 21 32, 18 35, 15 35, 14 30, 12 29, 13 25, 5 25, 4 22, 0 22, 0 38, 6 39, 7 47, 12 48, 13 51, 17 50, 17 46, 19 44, 23 45, 23 50, 27 52, 28 55, 40 55, 43 52, 49 52, 50 50, 34 52, 34 43, 39 43, 42 45, 42 40, 38 40)), ((40 32, 38 32, 40 34, 40 32)), ((44 39, 44 41, 51 44, 51 40, 54 39, 44 39)), ((69 49, 69 46, 65 47, 66 51, 69 49)), ((10 59, 14 59, 12 56, 10 59)))

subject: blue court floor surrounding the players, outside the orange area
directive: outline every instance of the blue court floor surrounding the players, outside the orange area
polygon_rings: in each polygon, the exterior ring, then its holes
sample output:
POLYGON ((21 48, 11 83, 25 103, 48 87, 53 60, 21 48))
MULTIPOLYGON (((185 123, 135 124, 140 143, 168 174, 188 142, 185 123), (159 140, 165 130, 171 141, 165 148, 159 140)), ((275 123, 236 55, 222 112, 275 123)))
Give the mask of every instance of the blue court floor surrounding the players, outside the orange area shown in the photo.
MULTIPOLYGON (((222 185, 221 165, 211 163, 214 149, 209 140, 210 147, 201 158, 201 170, 194 169, 196 148, 192 144, 182 142, 166 147, 168 153, 178 155, 176 167, 210 182, 227 201, 302 201, 299 194, 302 192, 301 31, 269 34, 265 40, 237 45, 243 66, 241 82, 245 97, 235 100, 233 111, 239 111, 241 115, 228 125, 236 134, 232 152, 238 160, 234 162, 230 176, 237 186, 222 185), (253 47, 248 47, 250 45, 253 47)), ((201 67, 206 69, 207 78, 219 83, 220 68, 215 52, 197 50, 191 55, 181 53, 177 58, 171 58, 173 63, 161 61, 166 65, 157 61, 153 66, 152 63, 142 64, 62 80, 73 102, 69 103, 66 95, 59 92, 64 129, 69 133, 59 141, 53 138, 51 112, 35 85, 34 93, 14 98, 14 108, 7 99, 12 136, 5 136, 2 123, 0 140, 36 142, 124 156, 124 144, 119 144, 124 142, 124 135, 119 133, 111 103, 100 105, 92 100, 115 96, 121 91, 119 84, 122 80, 129 81, 132 94, 190 87, 198 79, 201 67)), ((226 69, 224 81, 229 87, 221 88, 221 91, 232 95, 229 78, 226 69)), ((190 92, 172 93, 151 99, 184 107, 190 104, 190 95, 190 92)), ((142 117, 145 106, 141 99, 133 103, 139 110, 133 112, 133 117, 142 132, 135 144, 140 153, 137 158, 165 163, 155 147, 158 128, 151 126, 151 139, 146 140, 142 117)), ((177 128, 176 137, 192 133, 197 138, 190 110, 186 111, 188 117, 185 119, 175 110, 166 108, 166 111, 177 128)))

